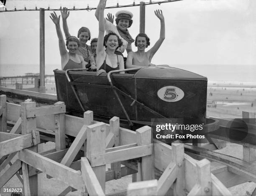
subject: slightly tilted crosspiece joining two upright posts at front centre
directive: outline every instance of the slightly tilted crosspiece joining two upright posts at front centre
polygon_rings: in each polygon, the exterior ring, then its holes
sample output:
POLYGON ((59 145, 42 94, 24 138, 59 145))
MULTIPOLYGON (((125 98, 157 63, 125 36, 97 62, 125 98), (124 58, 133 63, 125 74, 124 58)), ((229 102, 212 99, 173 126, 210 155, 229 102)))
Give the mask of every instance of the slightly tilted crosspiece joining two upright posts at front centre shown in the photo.
MULTIPOLYGON (((115 163, 122 160, 144 157, 151 154, 152 154, 152 144, 148 144, 143 146, 136 146, 132 148, 115 150, 115 151, 102 153, 98 155, 91 155, 90 163, 92 167, 96 167, 96 166, 105 165, 108 163, 113 163, 113 162, 115 163)), ((148 171, 148 173, 150 172, 148 171)))

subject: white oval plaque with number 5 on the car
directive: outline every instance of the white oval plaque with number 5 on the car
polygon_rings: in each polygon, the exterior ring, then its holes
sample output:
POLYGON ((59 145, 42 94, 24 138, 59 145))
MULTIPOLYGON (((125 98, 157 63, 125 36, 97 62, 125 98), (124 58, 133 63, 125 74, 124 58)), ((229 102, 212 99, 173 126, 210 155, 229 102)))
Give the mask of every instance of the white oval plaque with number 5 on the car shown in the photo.
POLYGON ((184 92, 178 87, 167 86, 159 89, 157 96, 166 102, 177 102, 184 97, 184 92))

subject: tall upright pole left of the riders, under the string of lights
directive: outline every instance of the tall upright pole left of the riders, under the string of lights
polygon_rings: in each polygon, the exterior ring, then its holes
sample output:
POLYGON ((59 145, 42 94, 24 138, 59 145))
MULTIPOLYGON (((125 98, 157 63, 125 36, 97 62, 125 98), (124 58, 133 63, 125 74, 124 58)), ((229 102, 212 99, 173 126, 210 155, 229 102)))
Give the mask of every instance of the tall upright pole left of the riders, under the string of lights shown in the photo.
POLYGON ((44 84, 44 8, 40 8, 40 87, 39 92, 45 93, 44 84))

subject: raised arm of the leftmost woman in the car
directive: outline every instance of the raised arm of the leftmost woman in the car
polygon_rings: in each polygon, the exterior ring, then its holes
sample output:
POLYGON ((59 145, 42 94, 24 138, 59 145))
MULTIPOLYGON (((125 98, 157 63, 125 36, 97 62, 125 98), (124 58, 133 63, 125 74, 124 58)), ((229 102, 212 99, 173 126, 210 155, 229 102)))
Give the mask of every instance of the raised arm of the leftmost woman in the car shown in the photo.
POLYGON ((61 28, 59 25, 59 19, 60 19, 60 15, 59 17, 56 15, 56 13, 51 13, 50 16, 51 20, 54 22, 55 27, 56 27, 56 32, 57 32, 57 36, 59 38, 59 52, 61 57, 64 57, 67 54, 67 50, 65 48, 65 42, 61 33, 61 28))

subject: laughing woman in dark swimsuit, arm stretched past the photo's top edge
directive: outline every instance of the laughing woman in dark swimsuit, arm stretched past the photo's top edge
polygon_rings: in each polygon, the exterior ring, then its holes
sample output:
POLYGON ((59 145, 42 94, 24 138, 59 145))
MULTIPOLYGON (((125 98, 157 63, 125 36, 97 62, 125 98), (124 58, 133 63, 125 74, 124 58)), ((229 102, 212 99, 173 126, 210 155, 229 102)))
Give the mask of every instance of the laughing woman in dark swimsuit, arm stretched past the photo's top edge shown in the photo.
MULTIPOLYGON (((124 69, 123 56, 115 53, 117 48, 122 46, 122 41, 116 33, 110 32, 104 37, 105 18, 104 9, 107 0, 100 0, 97 7, 99 12, 99 36, 96 48, 96 65, 100 72, 109 72, 112 70, 124 69), (106 50, 104 50, 104 46, 106 50)), ((120 72, 124 73, 124 72, 120 72)))

